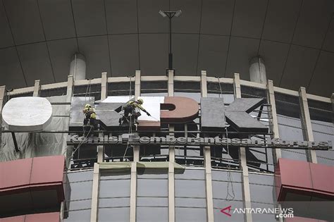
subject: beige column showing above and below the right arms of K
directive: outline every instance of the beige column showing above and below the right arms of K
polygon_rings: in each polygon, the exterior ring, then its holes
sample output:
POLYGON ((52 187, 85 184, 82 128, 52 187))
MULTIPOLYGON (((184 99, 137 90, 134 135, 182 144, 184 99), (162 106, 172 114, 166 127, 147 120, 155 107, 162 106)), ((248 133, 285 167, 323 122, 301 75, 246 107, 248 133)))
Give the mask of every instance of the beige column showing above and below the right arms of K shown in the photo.
MULTIPOLYGON (((240 75, 239 73, 234 74, 234 90, 235 98, 241 98, 240 89, 240 75)), ((240 147, 240 165, 242 168, 242 199, 244 199, 244 207, 251 208, 250 189, 249 189, 249 177, 248 177, 248 166, 246 159, 246 148, 240 147)), ((252 214, 245 214, 245 222, 252 222, 252 214)))

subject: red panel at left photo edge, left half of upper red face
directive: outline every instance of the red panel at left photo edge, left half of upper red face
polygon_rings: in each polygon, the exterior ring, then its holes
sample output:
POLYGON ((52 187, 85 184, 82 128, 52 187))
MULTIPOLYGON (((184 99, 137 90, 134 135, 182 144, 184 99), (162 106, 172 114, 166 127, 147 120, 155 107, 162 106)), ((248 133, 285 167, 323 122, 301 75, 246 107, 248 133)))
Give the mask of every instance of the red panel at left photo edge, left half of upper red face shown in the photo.
POLYGON ((0 163, 0 191, 28 185, 32 159, 18 159, 0 163))

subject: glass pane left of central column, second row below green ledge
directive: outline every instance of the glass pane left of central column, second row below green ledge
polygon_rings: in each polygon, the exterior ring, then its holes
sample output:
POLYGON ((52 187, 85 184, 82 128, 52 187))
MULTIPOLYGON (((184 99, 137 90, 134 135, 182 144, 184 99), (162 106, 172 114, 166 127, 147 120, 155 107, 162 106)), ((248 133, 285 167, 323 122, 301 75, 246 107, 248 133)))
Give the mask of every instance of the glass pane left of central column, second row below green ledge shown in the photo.
POLYGON ((137 179, 138 196, 168 196, 168 180, 137 179))

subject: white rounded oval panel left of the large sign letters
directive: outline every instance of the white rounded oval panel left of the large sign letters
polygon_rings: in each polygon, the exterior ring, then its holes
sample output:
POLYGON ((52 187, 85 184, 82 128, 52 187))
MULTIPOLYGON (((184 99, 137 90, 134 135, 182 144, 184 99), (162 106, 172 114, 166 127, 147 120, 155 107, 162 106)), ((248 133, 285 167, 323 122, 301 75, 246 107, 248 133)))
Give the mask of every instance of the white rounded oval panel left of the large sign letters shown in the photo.
POLYGON ((17 97, 9 100, 2 111, 8 130, 40 131, 51 122, 52 106, 42 97, 17 97))

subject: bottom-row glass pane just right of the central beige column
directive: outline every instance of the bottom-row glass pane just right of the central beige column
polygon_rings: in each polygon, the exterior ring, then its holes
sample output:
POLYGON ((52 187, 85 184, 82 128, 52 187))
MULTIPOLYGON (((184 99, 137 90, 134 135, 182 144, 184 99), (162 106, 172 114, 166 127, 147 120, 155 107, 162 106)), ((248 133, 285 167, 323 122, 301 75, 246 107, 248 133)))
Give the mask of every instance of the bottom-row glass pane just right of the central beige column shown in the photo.
POLYGON ((177 222, 204 222, 206 221, 205 208, 175 207, 175 221, 177 222))

